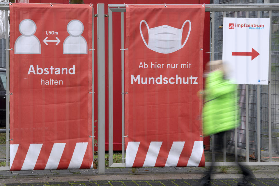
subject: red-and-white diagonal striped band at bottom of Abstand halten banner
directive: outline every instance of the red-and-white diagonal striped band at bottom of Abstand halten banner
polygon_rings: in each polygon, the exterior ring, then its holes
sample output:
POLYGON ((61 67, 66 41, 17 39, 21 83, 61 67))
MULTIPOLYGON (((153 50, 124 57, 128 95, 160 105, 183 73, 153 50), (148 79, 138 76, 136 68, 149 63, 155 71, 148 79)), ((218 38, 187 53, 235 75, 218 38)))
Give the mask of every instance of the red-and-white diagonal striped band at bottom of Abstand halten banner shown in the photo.
POLYGON ((27 153, 20 144, 10 145, 10 170, 38 170, 38 169, 81 169, 92 168, 92 147, 88 142, 76 143, 74 149, 66 143, 54 143, 50 153, 48 147, 42 149, 43 144, 30 144, 27 153), (41 155, 40 160, 39 156, 41 155), (90 166, 91 165, 91 166, 90 166))

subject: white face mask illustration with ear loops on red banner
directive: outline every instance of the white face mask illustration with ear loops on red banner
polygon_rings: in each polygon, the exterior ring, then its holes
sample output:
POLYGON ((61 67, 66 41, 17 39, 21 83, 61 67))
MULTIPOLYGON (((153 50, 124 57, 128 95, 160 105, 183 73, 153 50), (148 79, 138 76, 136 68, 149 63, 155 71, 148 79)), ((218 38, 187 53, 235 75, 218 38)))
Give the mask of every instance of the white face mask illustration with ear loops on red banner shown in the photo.
POLYGON ((149 28, 146 21, 142 20, 140 22, 140 35, 142 36, 142 40, 147 48, 159 52, 159 53, 172 53, 175 52, 182 47, 184 47, 185 43, 188 40, 188 37, 190 35, 191 31, 191 22, 189 20, 186 20, 181 29, 174 28, 168 25, 162 25, 154 28, 149 28), (145 23, 147 29, 148 29, 148 44, 146 44, 146 41, 143 38, 142 35, 142 23, 145 23), (187 37, 182 44, 182 31, 184 25, 189 22, 189 31, 187 34, 187 37))

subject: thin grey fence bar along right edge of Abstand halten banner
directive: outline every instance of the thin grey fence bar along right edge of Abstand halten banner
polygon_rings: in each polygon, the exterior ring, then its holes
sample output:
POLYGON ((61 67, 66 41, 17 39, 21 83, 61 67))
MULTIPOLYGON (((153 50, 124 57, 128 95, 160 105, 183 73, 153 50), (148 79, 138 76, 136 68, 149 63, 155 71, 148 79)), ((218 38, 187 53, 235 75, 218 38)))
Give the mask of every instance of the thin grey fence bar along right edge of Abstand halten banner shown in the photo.
MULTIPOLYGON (((94 49, 94 7, 92 5, 92 49, 94 49)), ((94 161, 94 51, 92 50, 92 158, 94 161)))

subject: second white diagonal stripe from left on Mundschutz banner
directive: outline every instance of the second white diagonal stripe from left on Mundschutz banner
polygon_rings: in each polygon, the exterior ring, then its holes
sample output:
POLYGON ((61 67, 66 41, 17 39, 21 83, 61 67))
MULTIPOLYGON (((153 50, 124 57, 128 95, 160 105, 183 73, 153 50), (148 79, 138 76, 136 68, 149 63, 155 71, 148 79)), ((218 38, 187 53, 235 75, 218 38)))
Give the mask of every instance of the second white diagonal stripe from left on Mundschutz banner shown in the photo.
POLYGON ((163 142, 150 142, 142 167, 154 167, 163 142))

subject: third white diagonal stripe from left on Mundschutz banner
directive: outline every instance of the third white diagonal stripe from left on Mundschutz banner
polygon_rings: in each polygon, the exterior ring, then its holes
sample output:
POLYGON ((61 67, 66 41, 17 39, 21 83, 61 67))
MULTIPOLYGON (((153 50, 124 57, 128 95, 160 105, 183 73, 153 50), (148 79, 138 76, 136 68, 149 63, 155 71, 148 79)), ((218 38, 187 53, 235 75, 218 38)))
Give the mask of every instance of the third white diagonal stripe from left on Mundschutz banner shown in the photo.
POLYGON ((176 167, 185 142, 173 142, 165 167, 176 167))

